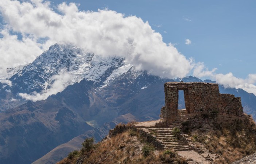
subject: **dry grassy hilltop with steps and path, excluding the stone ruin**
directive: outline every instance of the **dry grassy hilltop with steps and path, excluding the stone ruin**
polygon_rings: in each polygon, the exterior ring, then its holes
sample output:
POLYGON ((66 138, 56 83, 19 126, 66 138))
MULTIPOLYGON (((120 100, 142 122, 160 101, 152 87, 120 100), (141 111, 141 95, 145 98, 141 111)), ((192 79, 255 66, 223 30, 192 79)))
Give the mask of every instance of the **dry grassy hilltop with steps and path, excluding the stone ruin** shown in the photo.
MULTIPOLYGON (((158 120, 160 122, 161 120, 158 120)), ((119 124, 97 144, 86 139, 82 148, 70 152, 58 164, 82 163, 232 163, 256 152, 256 125, 251 116, 235 120, 230 124, 204 125, 181 132, 175 137, 172 128, 169 135, 173 140, 184 143, 188 149, 165 147, 159 138, 164 128, 155 128, 154 122, 119 124), (143 126, 146 125, 146 126, 143 126), (87 143, 87 144, 86 144, 87 143), (85 148, 90 145, 90 148, 85 148), (85 150, 86 149, 86 150, 85 150)), ((170 142, 174 144, 175 142, 170 142)))

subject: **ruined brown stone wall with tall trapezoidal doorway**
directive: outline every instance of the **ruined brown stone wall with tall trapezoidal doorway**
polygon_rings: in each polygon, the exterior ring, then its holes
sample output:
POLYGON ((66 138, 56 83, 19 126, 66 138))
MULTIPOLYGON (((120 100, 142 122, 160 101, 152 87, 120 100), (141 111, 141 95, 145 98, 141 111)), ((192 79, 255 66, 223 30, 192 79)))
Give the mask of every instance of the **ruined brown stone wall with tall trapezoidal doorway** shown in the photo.
MULTIPOLYGON (((186 113, 190 118, 202 119, 202 114, 222 116, 242 116, 243 107, 240 97, 232 94, 220 94, 215 83, 204 82, 167 82, 164 84, 165 106, 160 117, 167 125, 179 119, 179 90, 184 91, 186 113)), ((196 120, 198 124, 202 121, 196 120)))

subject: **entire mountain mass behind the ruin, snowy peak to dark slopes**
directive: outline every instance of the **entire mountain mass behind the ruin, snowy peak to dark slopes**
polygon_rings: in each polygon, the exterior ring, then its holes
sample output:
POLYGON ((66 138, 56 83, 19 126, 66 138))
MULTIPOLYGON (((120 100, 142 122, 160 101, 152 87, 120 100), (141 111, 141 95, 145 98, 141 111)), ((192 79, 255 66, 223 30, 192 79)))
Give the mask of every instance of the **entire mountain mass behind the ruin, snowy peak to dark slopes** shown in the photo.
MULTIPOLYGON (((9 164, 37 159, 35 163, 55 163, 79 149, 87 137, 100 141, 120 122, 159 119, 165 82, 201 81, 195 77, 162 79, 137 71, 123 58, 102 58, 58 44, 34 62, 14 69, 9 80, 13 86, 0 83, 0 103, 5 104, 5 112, 0 113, 0 163, 9 164), (50 89, 63 68, 72 77, 65 90, 36 102, 19 97, 18 93, 50 89)), ((221 86, 220 92, 241 97, 244 111, 256 118, 255 95, 221 86)), ((179 104, 185 108, 183 102, 179 104)))

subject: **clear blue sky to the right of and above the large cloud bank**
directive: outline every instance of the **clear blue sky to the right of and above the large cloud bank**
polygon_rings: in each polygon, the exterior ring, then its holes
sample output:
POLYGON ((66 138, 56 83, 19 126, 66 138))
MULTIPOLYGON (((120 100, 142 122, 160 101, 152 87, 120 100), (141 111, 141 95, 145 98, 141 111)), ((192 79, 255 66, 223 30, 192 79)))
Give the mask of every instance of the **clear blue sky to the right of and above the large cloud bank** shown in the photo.
MULTIPOLYGON (((62 0, 54 0, 55 4, 62 0)), ((217 73, 246 78, 256 73, 256 1, 253 0, 67 0, 81 10, 108 8, 148 21, 187 58, 217 73), (165 33, 166 32, 166 33, 165 33), (185 40, 191 40, 190 45, 185 40)))

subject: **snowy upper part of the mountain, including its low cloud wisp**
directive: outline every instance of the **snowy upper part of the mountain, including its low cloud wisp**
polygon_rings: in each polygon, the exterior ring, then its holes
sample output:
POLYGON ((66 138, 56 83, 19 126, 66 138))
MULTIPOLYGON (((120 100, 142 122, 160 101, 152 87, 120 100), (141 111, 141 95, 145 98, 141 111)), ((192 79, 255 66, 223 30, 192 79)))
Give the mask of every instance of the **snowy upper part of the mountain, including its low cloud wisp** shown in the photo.
POLYGON ((5 79, 11 81, 12 85, 3 85, 2 91, 8 92, 8 97, 1 98, 1 111, 27 100, 46 99, 82 79, 93 81, 98 90, 121 78, 125 79, 125 85, 135 85, 133 92, 150 85, 148 80, 138 78, 147 73, 136 70, 125 62, 124 58, 104 57, 85 52, 72 44, 54 44, 32 63, 9 68, 7 72, 8 76, 5 79))

